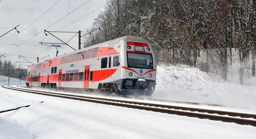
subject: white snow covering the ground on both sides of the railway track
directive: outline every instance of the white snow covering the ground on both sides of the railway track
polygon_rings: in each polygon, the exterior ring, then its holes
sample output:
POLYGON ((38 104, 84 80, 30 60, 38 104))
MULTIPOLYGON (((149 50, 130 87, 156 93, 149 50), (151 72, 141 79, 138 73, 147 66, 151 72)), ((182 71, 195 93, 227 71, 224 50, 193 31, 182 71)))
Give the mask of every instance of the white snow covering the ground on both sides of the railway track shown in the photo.
MULTIPOLYGON (((0 76, 0 84, 7 77, 0 76)), ((7 80, 8 81, 8 80, 7 80)), ((20 80, 13 79, 12 83, 20 80)), ((222 104, 255 112, 256 87, 186 66, 158 66, 153 99, 222 104)), ((148 97, 146 97, 148 98, 148 97)), ((254 139, 256 127, 0 88, 0 139, 254 139), (44 101, 43 103, 40 103, 44 101)))

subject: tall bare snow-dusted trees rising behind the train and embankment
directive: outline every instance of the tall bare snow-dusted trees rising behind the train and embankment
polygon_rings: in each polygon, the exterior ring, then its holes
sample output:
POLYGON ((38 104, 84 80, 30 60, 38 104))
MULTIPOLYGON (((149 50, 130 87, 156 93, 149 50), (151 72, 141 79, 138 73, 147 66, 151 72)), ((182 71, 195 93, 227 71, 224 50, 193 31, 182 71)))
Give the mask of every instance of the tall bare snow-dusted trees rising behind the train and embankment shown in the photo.
POLYGON ((108 0, 88 32, 97 28, 84 47, 139 36, 152 44, 158 64, 198 67, 224 81, 237 64, 241 84, 255 76, 256 0, 108 0))

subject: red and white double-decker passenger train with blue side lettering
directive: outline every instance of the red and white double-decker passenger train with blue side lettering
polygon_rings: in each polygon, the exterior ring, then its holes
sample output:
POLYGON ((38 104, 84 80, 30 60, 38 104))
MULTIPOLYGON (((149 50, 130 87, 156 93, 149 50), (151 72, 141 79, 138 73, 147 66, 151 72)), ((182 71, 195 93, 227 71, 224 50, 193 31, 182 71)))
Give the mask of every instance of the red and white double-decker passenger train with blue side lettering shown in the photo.
POLYGON ((33 64, 26 76, 27 87, 150 96, 155 91, 156 60, 146 39, 124 36, 33 64))

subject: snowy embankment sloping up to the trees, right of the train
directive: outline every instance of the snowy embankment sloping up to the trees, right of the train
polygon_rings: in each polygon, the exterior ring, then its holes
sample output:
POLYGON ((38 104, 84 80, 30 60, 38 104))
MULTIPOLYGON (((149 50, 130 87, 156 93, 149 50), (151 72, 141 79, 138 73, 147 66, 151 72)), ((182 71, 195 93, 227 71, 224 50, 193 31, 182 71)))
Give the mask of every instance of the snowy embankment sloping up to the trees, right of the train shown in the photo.
POLYGON ((151 98, 246 107, 256 112, 256 77, 240 85, 238 77, 224 82, 196 68, 160 65, 151 98))

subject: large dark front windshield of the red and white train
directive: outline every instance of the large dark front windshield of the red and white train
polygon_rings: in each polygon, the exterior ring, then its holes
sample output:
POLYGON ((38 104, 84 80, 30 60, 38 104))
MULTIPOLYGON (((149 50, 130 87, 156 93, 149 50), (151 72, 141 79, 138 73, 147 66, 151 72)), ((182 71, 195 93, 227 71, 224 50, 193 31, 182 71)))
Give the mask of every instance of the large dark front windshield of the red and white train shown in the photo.
POLYGON ((153 69, 153 57, 148 54, 127 53, 128 68, 153 69))

